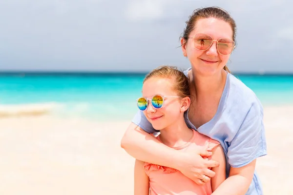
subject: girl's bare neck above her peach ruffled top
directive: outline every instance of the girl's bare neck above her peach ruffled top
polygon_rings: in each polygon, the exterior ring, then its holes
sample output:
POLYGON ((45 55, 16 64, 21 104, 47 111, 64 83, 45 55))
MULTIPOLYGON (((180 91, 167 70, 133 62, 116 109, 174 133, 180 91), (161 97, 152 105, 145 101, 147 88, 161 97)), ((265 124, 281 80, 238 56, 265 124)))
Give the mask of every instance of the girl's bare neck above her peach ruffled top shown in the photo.
POLYGON ((179 147, 190 141, 193 132, 186 125, 184 118, 160 130, 160 140, 169 147, 179 147))

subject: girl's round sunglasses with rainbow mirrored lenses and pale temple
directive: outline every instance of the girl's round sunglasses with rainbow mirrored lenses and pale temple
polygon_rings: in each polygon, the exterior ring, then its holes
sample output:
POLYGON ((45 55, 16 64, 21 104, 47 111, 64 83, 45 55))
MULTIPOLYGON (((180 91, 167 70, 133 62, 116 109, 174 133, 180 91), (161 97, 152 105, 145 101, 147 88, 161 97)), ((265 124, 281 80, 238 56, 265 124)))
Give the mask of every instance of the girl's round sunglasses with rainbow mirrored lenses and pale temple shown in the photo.
POLYGON ((141 110, 144 111, 146 110, 147 106, 148 106, 148 100, 150 100, 151 105, 153 106, 153 108, 155 109, 159 109, 162 108, 162 106, 164 105, 164 99, 165 98, 181 98, 180 96, 161 96, 161 95, 155 95, 152 98, 138 98, 136 100, 137 103, 137 107, 141 110))

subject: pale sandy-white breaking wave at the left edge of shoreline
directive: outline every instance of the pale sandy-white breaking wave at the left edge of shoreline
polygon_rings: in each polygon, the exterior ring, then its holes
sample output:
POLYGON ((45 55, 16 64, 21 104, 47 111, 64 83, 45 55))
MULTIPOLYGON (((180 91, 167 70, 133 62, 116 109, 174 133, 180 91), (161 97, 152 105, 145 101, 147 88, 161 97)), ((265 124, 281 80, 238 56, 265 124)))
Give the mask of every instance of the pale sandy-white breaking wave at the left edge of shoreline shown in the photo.
POLYGON ((31 104, 2 104, 0 105, 0 117, 22 117, 48 115, 62 104, 55 102, 31 103, 31 104))

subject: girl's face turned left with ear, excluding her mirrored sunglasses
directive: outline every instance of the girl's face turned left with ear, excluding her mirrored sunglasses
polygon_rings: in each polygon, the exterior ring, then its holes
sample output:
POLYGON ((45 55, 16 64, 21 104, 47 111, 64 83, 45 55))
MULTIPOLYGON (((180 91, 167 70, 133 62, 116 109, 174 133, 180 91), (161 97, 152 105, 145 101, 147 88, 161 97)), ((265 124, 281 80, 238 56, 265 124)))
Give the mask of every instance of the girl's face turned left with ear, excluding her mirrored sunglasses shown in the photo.
POLYGON ((188 107, 182 104, 182 98, 174 98, 168 96, 178 96, 173 90, 173 80, 170 78, 149 78, 143 85, 143 97, 151 99, 154 95, 161 95, 164 98, 162 108, 155 109, 151 102, 148 102, 144 114, 147 120, 156 130, 162 130, 174 124, 178 120, 182 120, 184 111, 188 107))

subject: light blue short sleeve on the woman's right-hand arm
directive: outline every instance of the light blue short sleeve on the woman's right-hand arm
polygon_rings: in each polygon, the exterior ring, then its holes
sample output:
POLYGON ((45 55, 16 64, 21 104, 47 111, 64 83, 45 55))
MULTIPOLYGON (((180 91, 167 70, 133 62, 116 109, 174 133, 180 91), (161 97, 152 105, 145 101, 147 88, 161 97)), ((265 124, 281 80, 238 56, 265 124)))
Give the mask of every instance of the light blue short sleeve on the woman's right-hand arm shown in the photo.
POLYGON ((255 158, 267 155, 263 108, 260 103, 251 105, 240 129, 230 142, 228 159, 231 167, 239 168, 255 158))

